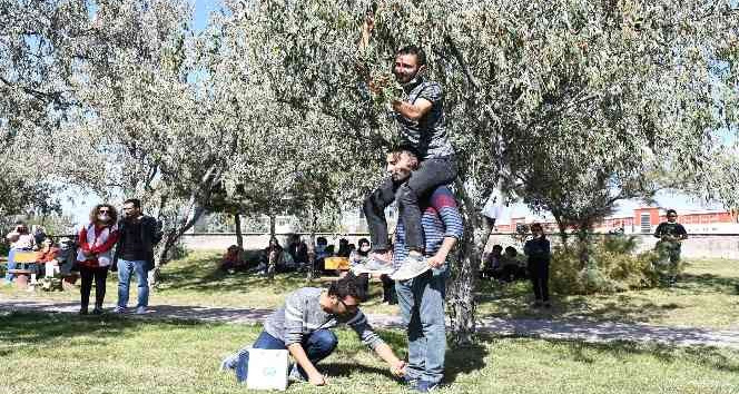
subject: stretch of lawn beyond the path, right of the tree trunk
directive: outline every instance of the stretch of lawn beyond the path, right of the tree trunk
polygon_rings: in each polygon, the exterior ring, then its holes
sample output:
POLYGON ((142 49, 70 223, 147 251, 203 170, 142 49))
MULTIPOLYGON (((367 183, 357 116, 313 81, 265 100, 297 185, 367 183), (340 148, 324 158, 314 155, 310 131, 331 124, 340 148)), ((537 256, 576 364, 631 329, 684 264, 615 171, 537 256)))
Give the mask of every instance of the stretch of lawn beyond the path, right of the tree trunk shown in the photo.
POLYGON ((553 296, 551 311, 529 307, 528 282, 484 282, 479 290, 481 315, 496 317, 591 318, 657 325, 739 329, 739 262, 690 260, 673 288, 651 288, 589 296, 553 296))

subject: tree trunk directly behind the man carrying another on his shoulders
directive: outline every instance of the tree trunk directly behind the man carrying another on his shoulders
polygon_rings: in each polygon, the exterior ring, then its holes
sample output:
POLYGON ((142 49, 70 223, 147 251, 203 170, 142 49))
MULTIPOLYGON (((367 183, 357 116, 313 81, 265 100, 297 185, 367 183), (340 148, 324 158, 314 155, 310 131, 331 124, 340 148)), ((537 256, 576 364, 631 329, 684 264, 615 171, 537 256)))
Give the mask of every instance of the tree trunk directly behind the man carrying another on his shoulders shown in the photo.
POLYGON ((476 329, 474 290, 482 253, 494 221, 480 223, 477 209, 460 180, 456 181, 456 190, 462 199, 460 211, 464 220, 464 235, 455 254, 457 264, 453 266, 447 302, 451 306, 452 341, 457 345, 464 345, 472 343, 476 329))

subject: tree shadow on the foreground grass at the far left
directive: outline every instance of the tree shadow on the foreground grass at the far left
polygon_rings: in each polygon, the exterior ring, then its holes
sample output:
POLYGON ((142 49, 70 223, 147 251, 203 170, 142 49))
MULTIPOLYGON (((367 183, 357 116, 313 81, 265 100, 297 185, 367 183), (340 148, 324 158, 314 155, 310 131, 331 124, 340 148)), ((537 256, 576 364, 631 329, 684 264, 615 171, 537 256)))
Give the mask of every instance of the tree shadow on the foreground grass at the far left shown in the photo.
POLYGON ((69 341, 78 336, 91 336, 107 342, 136 335, 146 325, 201 325, 203 322, 166 322, 142 318, 126 318, 117 315, 78 316, 68 313, 10 312, 0 314, 0 356, 20 351, 21 344, 42 345, 50 342, 69 341))

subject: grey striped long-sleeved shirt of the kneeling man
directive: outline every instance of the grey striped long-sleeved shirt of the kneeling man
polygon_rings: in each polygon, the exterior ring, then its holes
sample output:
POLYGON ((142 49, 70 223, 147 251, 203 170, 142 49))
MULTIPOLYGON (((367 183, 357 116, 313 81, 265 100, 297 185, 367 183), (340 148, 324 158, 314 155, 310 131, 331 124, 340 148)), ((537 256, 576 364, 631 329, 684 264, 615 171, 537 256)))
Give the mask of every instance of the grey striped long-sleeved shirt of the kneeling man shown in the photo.
POLYGON ((275 311, 264 324, 267 334, 285 342, 285 346, 299 344, 304 336, 323 328, 333 328, 338 324, 346 324, 359 336, 362 342, 373 349, 383 344, 383 339, 375 334, 362 311, 353 316, 333 315, 321 307, 321 293, 323 288, 303 287, 290 293, 285 299, 285 306, 275 311))

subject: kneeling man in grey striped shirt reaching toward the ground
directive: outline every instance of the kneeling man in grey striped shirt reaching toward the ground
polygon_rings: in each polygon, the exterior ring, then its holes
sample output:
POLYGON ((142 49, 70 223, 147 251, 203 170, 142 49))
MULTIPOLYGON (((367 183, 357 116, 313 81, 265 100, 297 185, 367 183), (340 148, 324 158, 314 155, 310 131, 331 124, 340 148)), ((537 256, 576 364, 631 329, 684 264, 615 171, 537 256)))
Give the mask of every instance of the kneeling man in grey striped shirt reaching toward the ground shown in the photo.
MULTIPOLYGON (((324 385, 326 378, 316 370, 316 364, 328 357, 338 344, 329 328, 344 323, 390 364, 394 375, 402 376, 405 362, 372 331, 367 317, 358 308, 364 298, 364 288, 353 274, 332 283, 328 289, 299 288, 287 296, 285 306, 267 318, 252 348, 287 349, 296 362, 290 367, 290 380, 324 385)), ((249 348, 245 347, 226 357, 221 370, 234 370, 236 380, 246 382, 248 361, 249 348)))

